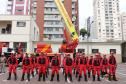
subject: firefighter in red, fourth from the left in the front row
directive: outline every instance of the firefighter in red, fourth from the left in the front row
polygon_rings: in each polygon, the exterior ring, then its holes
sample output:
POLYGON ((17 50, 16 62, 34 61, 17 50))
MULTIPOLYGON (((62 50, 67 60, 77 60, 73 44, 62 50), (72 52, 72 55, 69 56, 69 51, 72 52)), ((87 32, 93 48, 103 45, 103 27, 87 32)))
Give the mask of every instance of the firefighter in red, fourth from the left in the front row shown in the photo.
POLYGON ((57 74, 57 81, 60 81, 59 80, 60 60, 57 54, 55 54, 55 57, 53 57, 51 60, 51 67, 52 67, 52 75, 50 81, 53 81, 55 73, 57 74))

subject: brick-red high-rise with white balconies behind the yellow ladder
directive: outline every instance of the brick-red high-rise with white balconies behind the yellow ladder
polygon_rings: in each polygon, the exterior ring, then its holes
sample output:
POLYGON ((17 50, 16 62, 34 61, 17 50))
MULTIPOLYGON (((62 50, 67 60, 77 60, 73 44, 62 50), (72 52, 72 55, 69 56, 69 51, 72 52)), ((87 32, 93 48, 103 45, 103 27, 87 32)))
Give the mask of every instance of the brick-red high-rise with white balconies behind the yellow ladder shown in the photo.
MULTIPOLYGON (((78 0, 62 0, 62 2, 79 32, 78 0)), ((63 39, 65 24, 54 0, 37 1, 36 22, 41 26, 41 38, 44 40, 61 41, 63 39)))

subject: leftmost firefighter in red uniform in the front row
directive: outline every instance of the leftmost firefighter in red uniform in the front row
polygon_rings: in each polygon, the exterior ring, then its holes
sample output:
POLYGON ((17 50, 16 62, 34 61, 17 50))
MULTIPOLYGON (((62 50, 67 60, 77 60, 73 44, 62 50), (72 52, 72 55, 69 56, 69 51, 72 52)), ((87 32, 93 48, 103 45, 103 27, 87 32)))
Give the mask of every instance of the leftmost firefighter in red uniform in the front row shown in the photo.
POLYGON ((14 73, 15 80, 17 80, 16 68, 18 66, 18 60, 15 57, 15 54, 11 54, 11 56, 7 60, 7 64, 9 65, 9 77, 7 80, 11 79, 11 73, 14 73))

